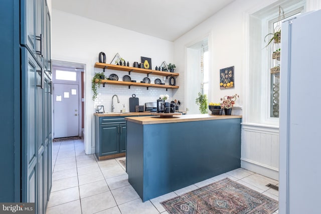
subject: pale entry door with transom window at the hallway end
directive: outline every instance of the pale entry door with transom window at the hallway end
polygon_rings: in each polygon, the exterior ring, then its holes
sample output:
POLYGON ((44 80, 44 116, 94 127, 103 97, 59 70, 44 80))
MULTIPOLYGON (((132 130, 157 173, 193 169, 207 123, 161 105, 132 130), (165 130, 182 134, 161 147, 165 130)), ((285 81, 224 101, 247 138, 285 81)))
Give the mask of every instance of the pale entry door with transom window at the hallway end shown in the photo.
POLYGON ((85 64, 53 61, 53 138, 82 137, 85 64))

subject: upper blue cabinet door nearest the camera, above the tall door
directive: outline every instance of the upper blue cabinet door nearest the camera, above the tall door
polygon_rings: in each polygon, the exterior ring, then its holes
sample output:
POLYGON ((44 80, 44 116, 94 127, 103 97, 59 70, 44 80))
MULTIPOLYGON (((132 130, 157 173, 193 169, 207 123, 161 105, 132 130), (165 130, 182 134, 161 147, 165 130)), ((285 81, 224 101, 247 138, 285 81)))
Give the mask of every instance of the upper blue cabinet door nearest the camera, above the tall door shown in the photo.
POLYGON ((44 2, 21 1, 21 44, 34 54, 40 64, 44 63, 44 2))

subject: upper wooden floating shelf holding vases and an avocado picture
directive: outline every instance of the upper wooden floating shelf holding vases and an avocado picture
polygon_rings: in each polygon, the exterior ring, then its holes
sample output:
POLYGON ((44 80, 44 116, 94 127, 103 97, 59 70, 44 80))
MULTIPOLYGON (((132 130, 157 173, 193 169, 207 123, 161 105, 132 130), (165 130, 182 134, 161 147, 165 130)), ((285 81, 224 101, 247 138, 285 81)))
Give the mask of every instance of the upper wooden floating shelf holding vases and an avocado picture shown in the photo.
POLYGON ((101 62, 96 62, 95 67, 103 68, 103 69, 112 69, 112 70, 121 70, 129 72, 136 72, 136 73, 145 73, 147 74, 155 74, 155 75, 162 75, 162 76, 178 76, 179 73, 167 72, 167 71, 160 71, 160 70, 151 70, 139 67, 127 67, 123 65, 116 65, 116 64, 106 64, 101 62))

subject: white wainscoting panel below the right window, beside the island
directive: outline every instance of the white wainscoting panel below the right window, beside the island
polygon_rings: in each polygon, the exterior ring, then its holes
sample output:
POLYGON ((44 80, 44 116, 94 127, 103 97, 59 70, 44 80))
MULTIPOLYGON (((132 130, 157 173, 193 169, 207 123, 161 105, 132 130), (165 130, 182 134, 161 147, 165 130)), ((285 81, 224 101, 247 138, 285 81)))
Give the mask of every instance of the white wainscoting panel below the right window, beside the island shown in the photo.
POLYGON ((242 123, 241 167, 279 179, 279 128, 242 123))

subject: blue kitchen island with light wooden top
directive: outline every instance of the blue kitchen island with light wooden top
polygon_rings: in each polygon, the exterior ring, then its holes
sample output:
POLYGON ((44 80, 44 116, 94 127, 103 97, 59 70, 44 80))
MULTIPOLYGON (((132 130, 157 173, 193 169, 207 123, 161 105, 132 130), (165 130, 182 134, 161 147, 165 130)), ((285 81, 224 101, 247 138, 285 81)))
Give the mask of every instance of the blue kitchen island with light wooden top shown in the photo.
POLYGON ((241 166, 241 116, 126 117, 128 181, 142 201, 241 166))

